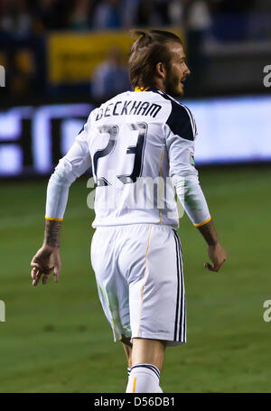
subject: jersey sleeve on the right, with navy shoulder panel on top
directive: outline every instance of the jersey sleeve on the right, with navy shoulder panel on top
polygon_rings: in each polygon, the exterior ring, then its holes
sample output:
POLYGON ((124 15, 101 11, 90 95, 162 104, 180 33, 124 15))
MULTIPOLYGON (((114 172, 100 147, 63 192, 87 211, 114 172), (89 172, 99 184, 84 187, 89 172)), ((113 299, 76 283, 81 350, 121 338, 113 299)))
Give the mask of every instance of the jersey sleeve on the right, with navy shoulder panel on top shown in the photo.
POLYGON ((172 112, 166 125, 166 146, 170 177, 182 207, 195 227, 210 221, 210 212, 194 166, 194 139, 197 128, 190 110, 172 101, 172 112))

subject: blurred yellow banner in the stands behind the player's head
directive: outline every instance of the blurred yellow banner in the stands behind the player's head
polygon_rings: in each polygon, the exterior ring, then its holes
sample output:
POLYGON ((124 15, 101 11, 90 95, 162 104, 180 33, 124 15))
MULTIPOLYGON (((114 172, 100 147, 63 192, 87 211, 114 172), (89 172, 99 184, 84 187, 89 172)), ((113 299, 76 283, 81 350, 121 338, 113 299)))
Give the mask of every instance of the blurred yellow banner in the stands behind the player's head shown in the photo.
MULTIPOLYGON (((170 31, 181 35, 179 30, 170 31)), ((129 31, 51 33, 47 40, 48 79, 51 84, 90 82, 95 67, 107 60, 108 51, 118 48, 126 63, 135 41, 129 31)))

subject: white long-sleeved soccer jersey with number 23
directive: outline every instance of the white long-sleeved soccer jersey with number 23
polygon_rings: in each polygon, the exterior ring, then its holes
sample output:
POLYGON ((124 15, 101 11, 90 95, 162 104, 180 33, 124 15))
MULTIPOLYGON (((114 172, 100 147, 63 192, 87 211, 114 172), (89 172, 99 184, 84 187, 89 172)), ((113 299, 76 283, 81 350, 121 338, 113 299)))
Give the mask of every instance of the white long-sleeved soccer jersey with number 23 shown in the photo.
POLYGON ((46 216, 61 220, 70 183, 92 164, 93 227, 135 223, 178 227, 174 199, 195 226, 210 220, 194 167, 197 129, 190 110, 157 89, 126 91, 94 109, 48 186, 46 216), (173 179, 172 179, 173 178, 173 179), (181 181, 180 178, 183 180, 181 181))

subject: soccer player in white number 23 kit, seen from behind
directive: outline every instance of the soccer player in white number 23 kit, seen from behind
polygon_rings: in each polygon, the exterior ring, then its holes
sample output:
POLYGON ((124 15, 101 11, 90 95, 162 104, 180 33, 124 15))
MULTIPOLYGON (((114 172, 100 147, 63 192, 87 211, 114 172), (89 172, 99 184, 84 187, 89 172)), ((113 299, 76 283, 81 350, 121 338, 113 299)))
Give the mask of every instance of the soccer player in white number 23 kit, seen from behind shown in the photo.
POLYGON ((128 362, 126 392, 163 392, 166 346, 186 341, 182 247, 176 229, 177 192, 207 242, 210 271, 226 252, 210 218, 195 168, 197 127, 182 96, 190 74, 182 42, 173 33, 137 31, 129 57, 133 91, 94 109, 70 151, 51 175, 45 236, 33 257, 33 285, 61 270, 60 231, 69 187, 92 165, 96 229, 91 263, 114 339, 128 362))

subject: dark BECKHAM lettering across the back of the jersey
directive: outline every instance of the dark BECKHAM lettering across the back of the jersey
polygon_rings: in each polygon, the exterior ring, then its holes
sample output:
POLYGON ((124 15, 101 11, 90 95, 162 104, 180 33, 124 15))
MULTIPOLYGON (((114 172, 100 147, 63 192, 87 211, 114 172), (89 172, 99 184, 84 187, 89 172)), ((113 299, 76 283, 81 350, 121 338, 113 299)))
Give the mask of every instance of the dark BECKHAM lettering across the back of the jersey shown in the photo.
POLYGON ((148 101, 117 101, 117 103, 109 103, 106 107, 100 107, 96 121, 102 117, 110 116, 150 116, 156 117, 162 106, 148 101), (133 103, 133 104, 132 104, 133 103))

